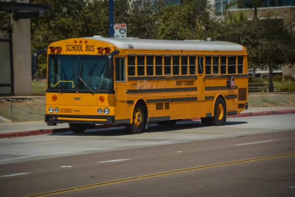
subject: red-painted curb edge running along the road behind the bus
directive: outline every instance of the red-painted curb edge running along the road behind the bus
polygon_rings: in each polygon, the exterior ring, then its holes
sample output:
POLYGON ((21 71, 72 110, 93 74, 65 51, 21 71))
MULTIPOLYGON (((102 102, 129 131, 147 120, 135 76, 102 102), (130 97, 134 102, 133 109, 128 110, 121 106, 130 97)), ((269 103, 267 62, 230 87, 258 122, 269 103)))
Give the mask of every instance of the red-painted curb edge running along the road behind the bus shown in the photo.
MULTIPOLYGON (((279 114, 295 114, 295 109, 283 109, 283 110, 271 110, 271 111, 257 111, 257 112, 247 112, 240 113, 237 115, 227 116, 229 118, 235 117, 247 117, 247 116, 266 116, 266 115, 279 115, 279 114)), ((199 121, 201 118, 192 118, 187 119, 188 121, 199 121)), ((184 121, 187 121, 184 120, 184 121)), ((106 129, 106 128, 116 128, 122 127, 123 125, 97 125, 93 129, 106 129)), ((52 133, 61 133, 68 132, 70 128, 63 129, 45 129, 45 130, 35 130, 35 131, 20 131, 20 132, 4 132, 0 133, 0 138, 12 138, 12 137, 24 137, 30 135, 43 135, 43 134, 52 134, 52 133)))

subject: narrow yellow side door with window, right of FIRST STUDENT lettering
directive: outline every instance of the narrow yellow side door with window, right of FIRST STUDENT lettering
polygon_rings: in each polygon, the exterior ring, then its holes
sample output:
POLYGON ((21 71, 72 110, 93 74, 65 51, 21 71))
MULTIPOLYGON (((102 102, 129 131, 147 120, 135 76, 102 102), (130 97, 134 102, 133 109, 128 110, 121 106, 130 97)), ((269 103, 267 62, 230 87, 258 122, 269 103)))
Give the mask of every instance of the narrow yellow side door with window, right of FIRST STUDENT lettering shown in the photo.
POLYGON ((205 101, 205 58, 198 56, 198 101, 205 101))

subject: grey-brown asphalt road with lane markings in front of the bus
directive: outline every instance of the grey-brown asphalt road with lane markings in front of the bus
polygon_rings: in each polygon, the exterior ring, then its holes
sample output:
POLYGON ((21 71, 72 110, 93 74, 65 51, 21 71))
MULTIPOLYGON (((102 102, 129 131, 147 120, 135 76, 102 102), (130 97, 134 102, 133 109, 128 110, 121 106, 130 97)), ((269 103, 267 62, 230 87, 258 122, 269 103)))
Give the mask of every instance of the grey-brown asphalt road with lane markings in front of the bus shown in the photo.
POLYGON ((110 129, 1 139, 0 196, 295 197, 294 121, 289 114, 223 127, 153 126, 139 135, 110 129))

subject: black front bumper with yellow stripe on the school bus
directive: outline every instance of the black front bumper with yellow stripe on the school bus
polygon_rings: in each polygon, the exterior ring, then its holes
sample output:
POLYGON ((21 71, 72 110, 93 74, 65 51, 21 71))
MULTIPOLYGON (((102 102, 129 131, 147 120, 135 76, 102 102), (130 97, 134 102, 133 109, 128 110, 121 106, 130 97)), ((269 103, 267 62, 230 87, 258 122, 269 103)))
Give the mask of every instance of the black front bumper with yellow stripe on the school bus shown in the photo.
POLYGON ((45 115, 48 125, 57 123, 85 123, 85 124, 116 124, 115 116, 75 116, 75 115, 45 115))

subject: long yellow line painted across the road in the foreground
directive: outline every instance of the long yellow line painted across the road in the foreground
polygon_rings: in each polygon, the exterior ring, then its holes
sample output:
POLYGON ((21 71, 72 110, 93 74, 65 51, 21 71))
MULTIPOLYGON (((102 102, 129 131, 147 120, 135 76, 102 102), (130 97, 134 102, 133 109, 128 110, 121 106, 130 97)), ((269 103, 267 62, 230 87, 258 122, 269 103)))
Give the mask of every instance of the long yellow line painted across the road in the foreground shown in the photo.
POLYGON ((197 167, 191 167, 191 168, 185 168, 185 169, 178 169, 178 170, 173 170, 173 171, 160 172, 160 173, 156 173, 156 174, 148 174, 148 175, 144 175, 144 176, 136 176, 136 177, 130 177, 130 178, 119 179, 119 180, 114 180, 114 181, 96 183, 96 184, 91 184, 91 185, 78 186, 78 187, 74 187, 74 188, 67 188, 67 189, 53 191, 53 192, 35 194, 32 196, 28 196, 28 197, 47 197, 47 196, 56 195, 56 194, 73 192, 73 191, 78 191, 78 190, 85 190, 85 189, 90 189, 90 188, 95 188, 95 187, 106 186, 106 185, 113 185, 113 184, 123 183, 123 182, 128 182, 128 181, 136 181, 136 180, 141 180, 141 179, 146 179, 146 178, 151 178, 151 177, 165 176, 165 175, 188 172, 188 171, 193 171, 193 170, 198 170, 198 169, 206 169, 206 168, 219 167, 219 166, 231 165, 231 164, 242 164, 242 163, 247 163, 247 162, 255 162, 255 161, 260 161, 260 160, 287 157, 287 156, 295 156, 295 153, 289 153, 289 154, 283 154, 283 155, 273 155, 273 156, 259 157, 259 158, 253 158, 253 159, 248 159, 248 160, 226 162, 226 163, 221 163, 221 164, 211 164, 211 165, 203 165, 203 166, 197 166, 197 167))

